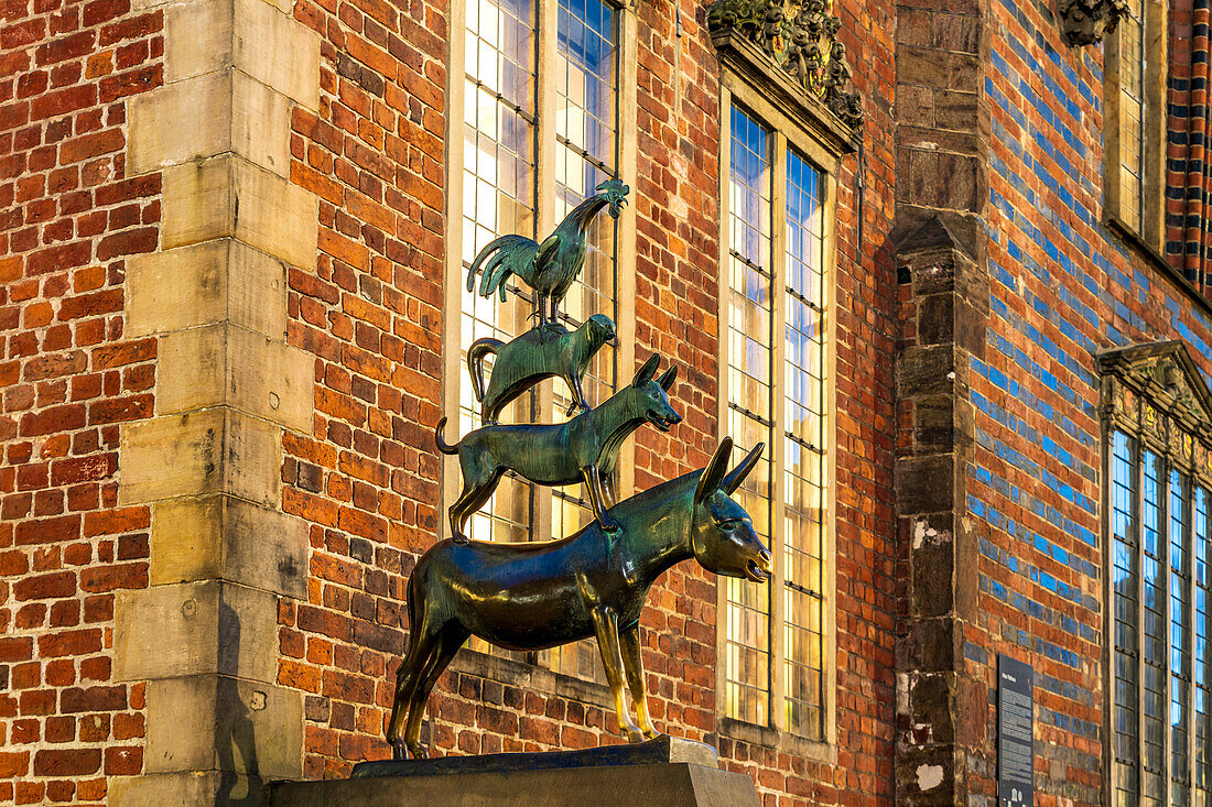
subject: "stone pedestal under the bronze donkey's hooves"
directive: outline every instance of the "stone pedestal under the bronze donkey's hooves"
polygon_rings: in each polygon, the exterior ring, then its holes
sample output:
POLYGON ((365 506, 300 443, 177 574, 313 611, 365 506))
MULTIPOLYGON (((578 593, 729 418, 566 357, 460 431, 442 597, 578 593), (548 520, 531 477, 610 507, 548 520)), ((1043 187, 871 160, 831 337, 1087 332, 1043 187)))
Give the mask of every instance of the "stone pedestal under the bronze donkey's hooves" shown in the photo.
POLYGON ((661 738, 584 751, 364 762, 350 779, 279 782, 271 807, 758 807, 743 773, 702 743, 661 738))

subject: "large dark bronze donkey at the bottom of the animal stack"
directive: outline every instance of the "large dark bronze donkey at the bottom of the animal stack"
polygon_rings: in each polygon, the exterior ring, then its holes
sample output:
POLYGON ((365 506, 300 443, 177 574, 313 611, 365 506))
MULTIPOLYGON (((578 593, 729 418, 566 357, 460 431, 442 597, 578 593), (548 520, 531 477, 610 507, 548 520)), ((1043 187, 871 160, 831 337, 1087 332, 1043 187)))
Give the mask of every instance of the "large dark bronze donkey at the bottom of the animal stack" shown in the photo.
POLYGON ((728 498, 762 447, 728 471, 732 440, 725 437, 707 468, 611 508, 619 530, 610 537, 595 520, 560 540, 447 539, 430 548, 408 578, 408 652, 387 727, 395 759, 425 756, 421 719, 429 692, 471 634, 516 651, 596 636, 619 728, 633 743, 657 737, 640 665, 640 609, 656 579, 691 557, 716 574, 770 579, 770 551, 728 498), (639 726, 627 708, 624 675, 639 726))

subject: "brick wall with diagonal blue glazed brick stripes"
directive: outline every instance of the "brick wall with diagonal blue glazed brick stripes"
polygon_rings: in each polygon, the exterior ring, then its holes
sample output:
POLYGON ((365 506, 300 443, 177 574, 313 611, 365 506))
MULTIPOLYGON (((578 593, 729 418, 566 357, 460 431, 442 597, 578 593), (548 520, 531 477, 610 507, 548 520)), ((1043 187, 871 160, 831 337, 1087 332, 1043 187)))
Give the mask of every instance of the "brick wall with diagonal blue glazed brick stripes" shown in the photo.
POLYGON ((1212 320, 1157 264, 1102 224, 1099 52, 1068 48, 1040 8, 991 4, 985 216, 990 320, 973 359, 981 623, 965 663, 989 687, 970 803, 994 797, 996 653, 1030 662, 1041 803, 1103 801, 1107 682, 1099 382, 1093 354, 1184 339, 1208 368, 1212 320))

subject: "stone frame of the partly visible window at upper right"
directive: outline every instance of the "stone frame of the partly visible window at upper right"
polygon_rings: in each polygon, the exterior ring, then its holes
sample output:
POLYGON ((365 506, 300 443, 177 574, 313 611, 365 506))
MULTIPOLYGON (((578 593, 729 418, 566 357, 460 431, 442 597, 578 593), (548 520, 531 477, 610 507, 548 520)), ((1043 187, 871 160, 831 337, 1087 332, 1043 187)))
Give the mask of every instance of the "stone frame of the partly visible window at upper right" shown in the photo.
MULTIPOLYGON (((1168 13, 1161 0, 1140 4, 1142 53, 1168 52, 1168 13)), ((1166 74, 1168 59, 1143 58, 1139 224, 1133 224, 1130 200, 1122 198, 1122 67, 1125 40, 1133 25, 1126 11, 1115 32, 1103 41, 1103 219, 1120 235, 1162 258, 1166 237, 1166 74)), ((1168 264, 1167 264, 1168 265, 1168 264)))

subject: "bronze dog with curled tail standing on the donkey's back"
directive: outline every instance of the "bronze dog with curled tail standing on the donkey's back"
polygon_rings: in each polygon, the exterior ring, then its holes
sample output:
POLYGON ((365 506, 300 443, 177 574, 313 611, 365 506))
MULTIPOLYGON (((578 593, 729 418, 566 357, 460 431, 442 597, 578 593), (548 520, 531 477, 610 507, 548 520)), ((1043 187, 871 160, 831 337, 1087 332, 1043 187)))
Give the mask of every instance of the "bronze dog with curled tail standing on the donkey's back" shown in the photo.
POLYGON ((614 497, 607 494, 604 477, 614 470, 623 441, 645 422, 662 431, 681 423, 668 395, 678 367, 653 378, 659 361, 651 356, 629 385, 567 423, 486 425, 450 446, 442 439, 447 418, 439 420, 434 429, 438 450, 444 454, 458 454, 463 471, 463 492, 450 509, 452 539, 467 543, 467 520, 484 506, 507 470, 539 485, 583 481, 598 523, 607 533, 616 532, 618 526, 606 516, 614 497))

